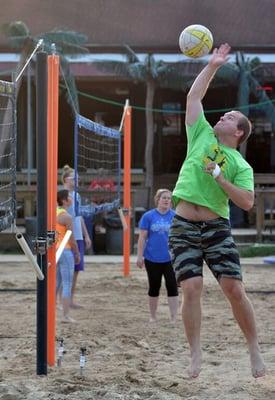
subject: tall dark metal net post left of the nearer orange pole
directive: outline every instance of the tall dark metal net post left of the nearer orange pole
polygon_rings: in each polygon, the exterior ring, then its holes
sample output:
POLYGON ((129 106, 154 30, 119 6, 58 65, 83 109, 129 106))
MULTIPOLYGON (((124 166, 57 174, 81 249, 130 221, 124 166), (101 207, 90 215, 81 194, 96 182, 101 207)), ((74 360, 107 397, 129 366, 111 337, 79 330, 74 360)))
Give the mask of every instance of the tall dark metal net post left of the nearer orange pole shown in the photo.
POLYGON ((37 280, 37 375, 47 375, 47 53, 37 53, 37 263, 45 277, 37 280))

